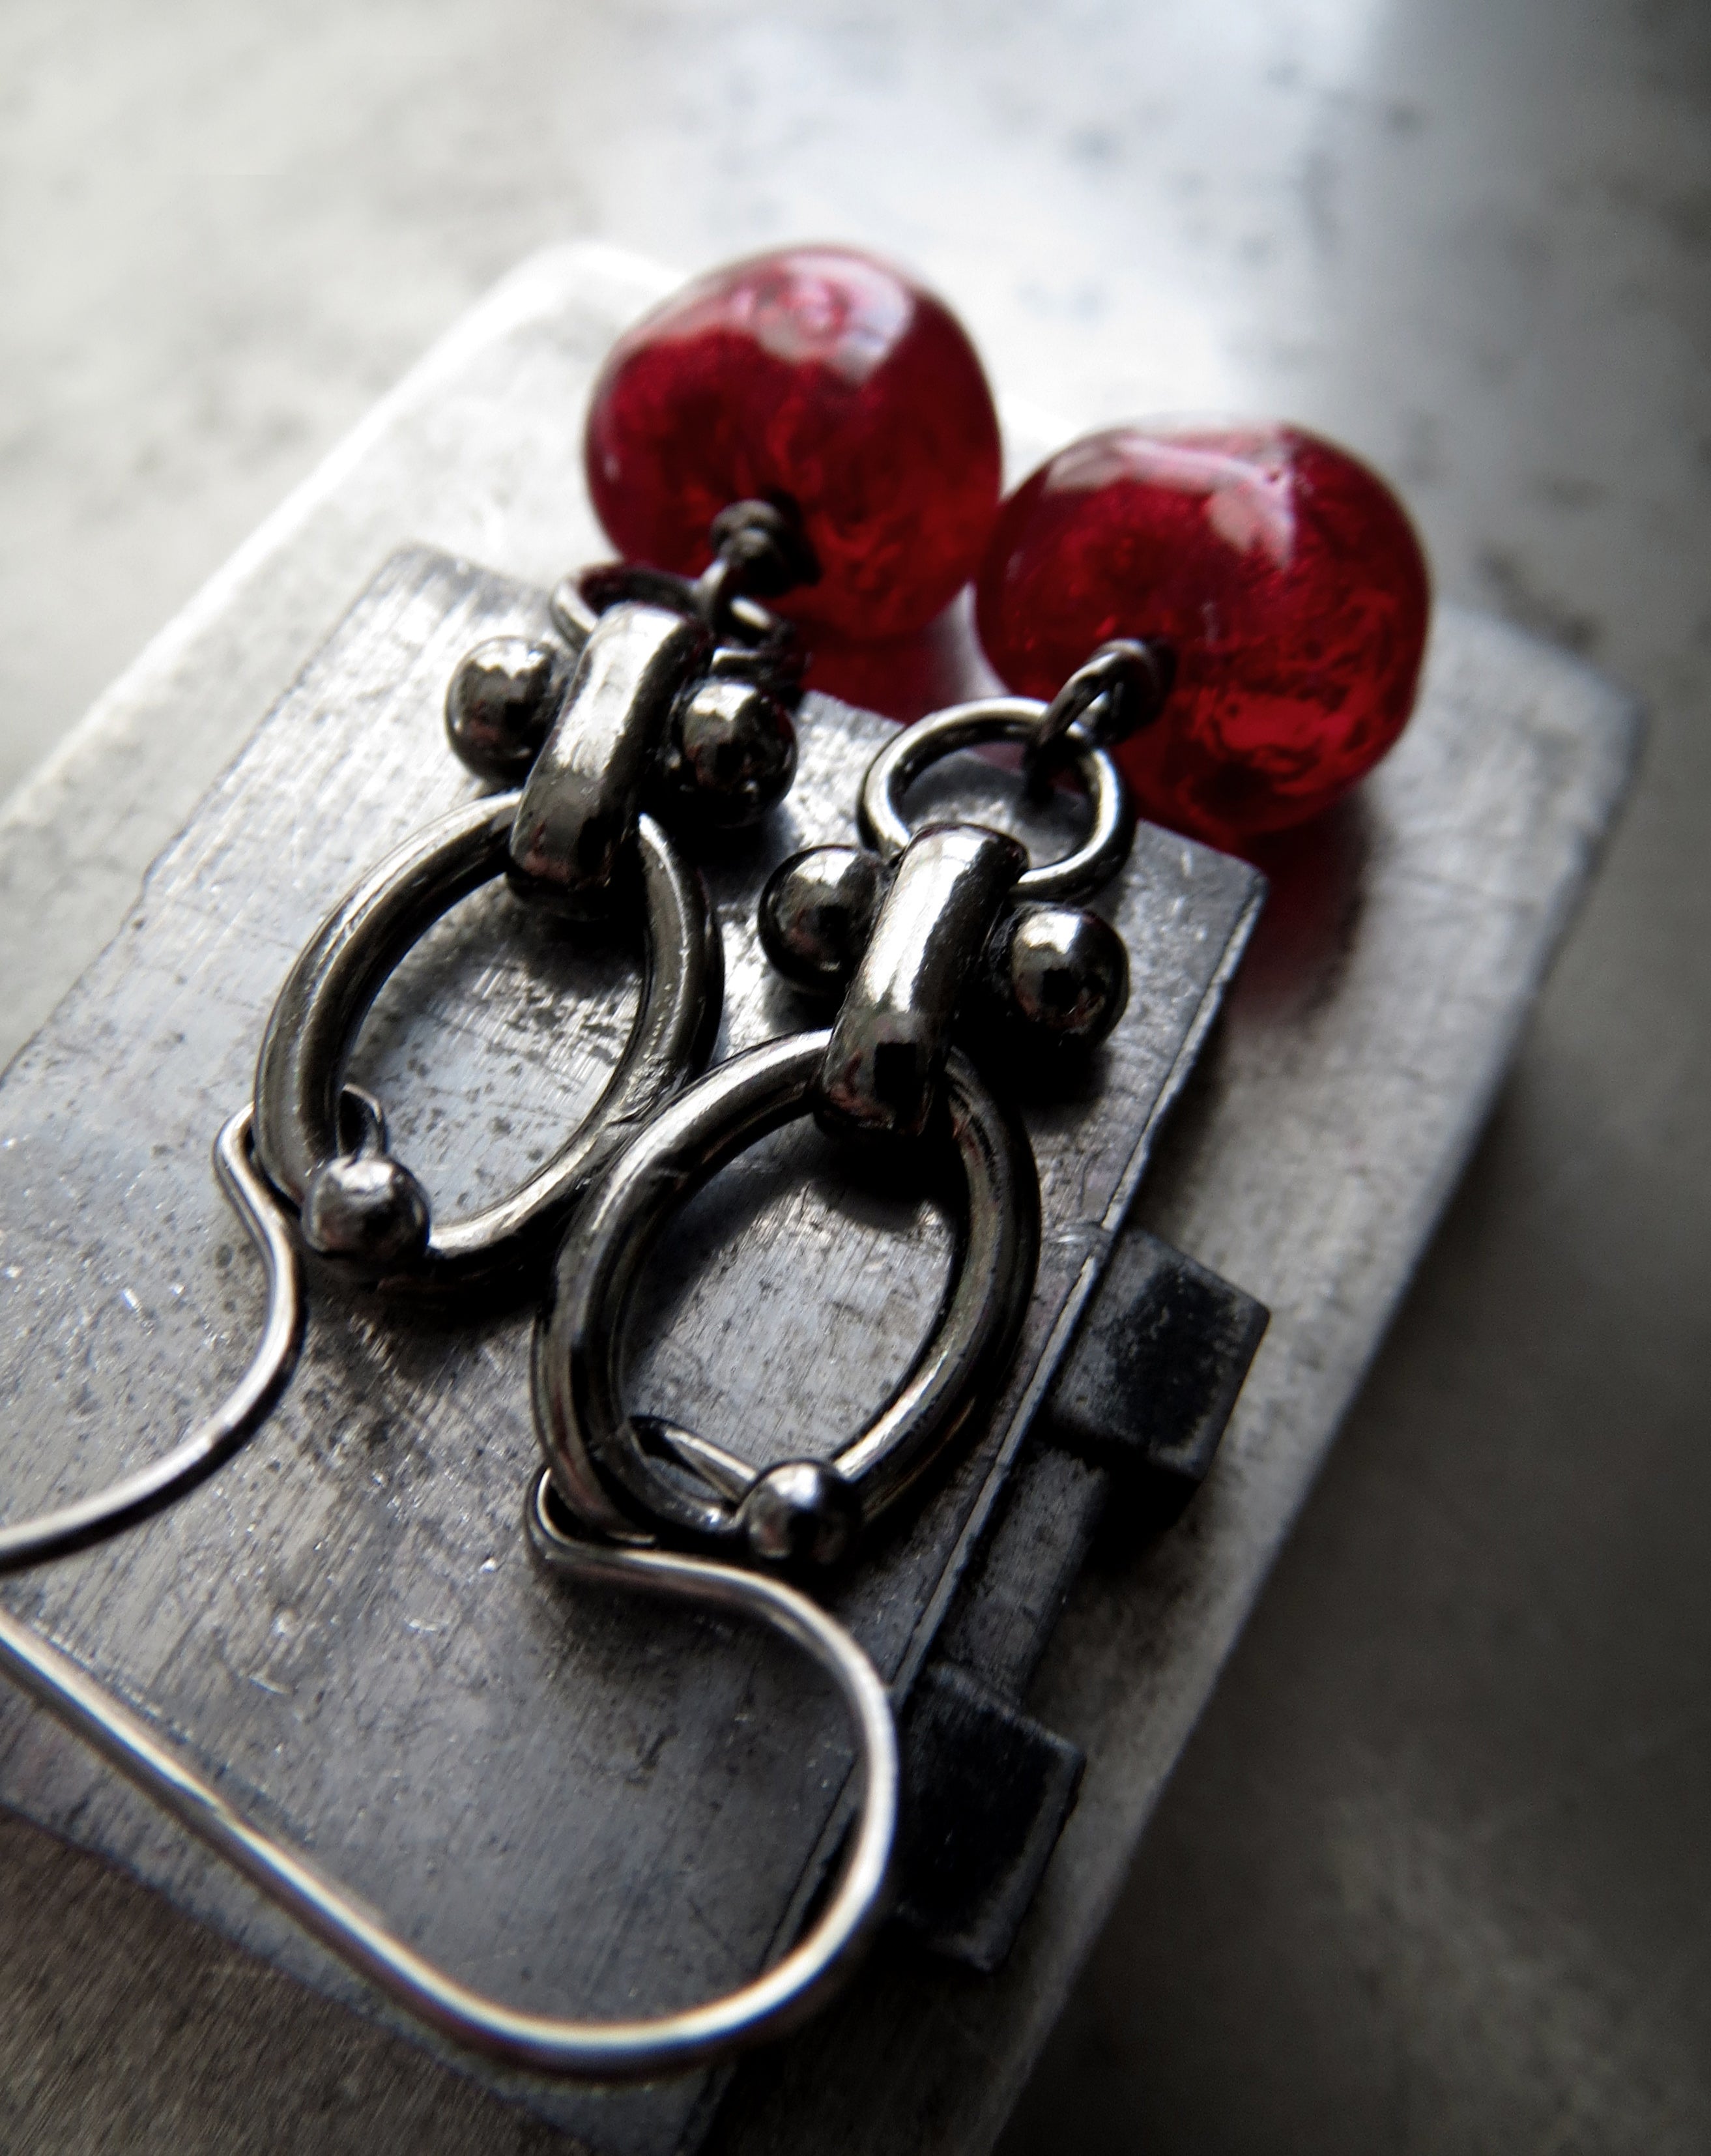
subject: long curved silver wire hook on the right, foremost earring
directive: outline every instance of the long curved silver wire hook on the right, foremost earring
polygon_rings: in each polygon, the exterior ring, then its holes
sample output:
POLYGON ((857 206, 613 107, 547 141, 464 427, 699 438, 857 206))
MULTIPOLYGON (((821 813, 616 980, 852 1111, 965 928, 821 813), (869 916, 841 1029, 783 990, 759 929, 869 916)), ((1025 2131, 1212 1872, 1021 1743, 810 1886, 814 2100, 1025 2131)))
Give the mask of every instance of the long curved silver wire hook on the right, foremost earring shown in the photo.
POLYGON ((500 2005, 416 1953, 343 1887, 323 1880, 302 1856, 252 1826, 138 1714, 4 1608, 0 1669, 323 1947, 455 2044, 537 2074, 646 2081, 780 2035, 845 1975, 886 1912, 896 1839, 896 1729, 873 1662, 836 1619, 793 1587, 698 1557, 582 1542, 562 1533, 547 1507, 550 1479, 543 1475, 530 1492, 530 1539, 554 1570, 759 1619, 819 1662, 856 1727, 862 1811, 825 1910, 780 1962, 707 2005, 612 2022, 500 2005))

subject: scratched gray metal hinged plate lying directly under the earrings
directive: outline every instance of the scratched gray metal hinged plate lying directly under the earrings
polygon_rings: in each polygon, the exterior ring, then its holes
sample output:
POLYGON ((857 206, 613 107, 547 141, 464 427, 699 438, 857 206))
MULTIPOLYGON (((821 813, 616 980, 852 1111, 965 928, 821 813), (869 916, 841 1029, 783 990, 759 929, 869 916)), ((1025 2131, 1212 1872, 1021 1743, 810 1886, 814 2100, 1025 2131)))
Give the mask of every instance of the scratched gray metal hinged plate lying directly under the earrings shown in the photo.
MULTIPOLYGON (((534 627, 537 593, 397 556, 149 877, 0 1087, 0 1488, 17 1516, 164 1449, 241 1367, 256 1266, 207 1169, 295 949, 388 845, 468 798, 440 740, 457 655, 534 627)), ((886 727, 812 699, 802 776, 759 841, 709 856, 726 938, 720 1052, 799 1024, 752 938, 784 852, 847 837, 886 727)), ((998 793, 972 759, 946 785, 998 793)), ((1030 1102, 1043 1257, 1015 1378, 978 1445, 847 1595, 907 1682, 1043 1388, 1164 1104, 1258 903, 1246 867, 1142 828, 1114 914, 1131 1009, 1071 1100, 1030 1102)), ((593 1097, 634 1003, 623 949, 502 890, 401 970, 356 1074, 444 1210, 493 1197, 593 1097)), ((683 1216, 653 1279, 634 1399, 756 1457, 830 1447, 922 1337, 937 1214, 840 1181, 784 1134, 683 1216)), ((116 1544, 4 1585, 226 1787, 470 1981, 534 2009, 687 2003, 793 1919, 847 1770, 782 1649, 545 1580, 528 1311, 457 1324, 312 1287, 304 1367, 211 1483, 116 1544)), ((360 1988, 106 1772, 0 1701, 0 1800, 134 1867, 336 1996, 360 1988)), ((698 2085, 599 2096, 485 2078, 610 2150, 670 2150, 698 2085)))

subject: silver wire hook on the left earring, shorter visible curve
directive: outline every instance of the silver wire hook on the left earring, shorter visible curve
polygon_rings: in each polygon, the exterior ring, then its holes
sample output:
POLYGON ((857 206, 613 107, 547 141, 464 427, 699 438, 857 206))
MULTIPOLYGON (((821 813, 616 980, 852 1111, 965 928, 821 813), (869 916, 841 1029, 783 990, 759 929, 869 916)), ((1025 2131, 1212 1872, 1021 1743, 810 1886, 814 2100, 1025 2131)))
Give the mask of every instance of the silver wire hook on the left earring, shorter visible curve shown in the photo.
POLYGON ((267 1319, 250 1367, 213 1414, 162 1460, 97 1490, 93 1496, 80 1496, 58 1511, 43 1511, 34 1520, 0 1526, 0 1572, 17 1572, 50 1557, 86 1550, 93 1542, 116 1535, 121 1526, 147 1520, 151 1511, 170 1505, 172 1498, 183 1496, 222 1460, 231 1457, 265 1421, 284 1391, 304 1345, 302 1261, 278 1199, 256 1173, 248 1108, 235 1115, 213 1141, 213 1173, 220 1177, 220 1188, 231 1199, 233 1212, 250 1231, 267 1272, 267 1319))

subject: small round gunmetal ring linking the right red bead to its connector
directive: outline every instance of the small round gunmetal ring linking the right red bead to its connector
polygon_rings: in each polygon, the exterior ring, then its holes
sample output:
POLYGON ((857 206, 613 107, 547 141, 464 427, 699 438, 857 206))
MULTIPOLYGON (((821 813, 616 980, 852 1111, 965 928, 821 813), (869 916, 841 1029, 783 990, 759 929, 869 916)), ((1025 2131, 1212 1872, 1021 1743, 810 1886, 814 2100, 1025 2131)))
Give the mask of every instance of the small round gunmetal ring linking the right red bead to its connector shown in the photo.
MULTIPOLYGON (((914 837, 903 796, 924 770, 959 748, 985 748, 991 742, 1030 746, 1047 705, 1032 696, 983 696, 978 703, 955 703, 933 711, 896 733, 868 763, 862 780, 862 834, 888 860, 901 854, 914 837)), ((1082 899, 1105 884, 1129 858, 1136 819, 1129 789, 1123 785, 1108 748, 1075 744, 1067 759, 1080 774, 1093 808, 1093 828, 1073 854, 1026 869, 1015 886, 1017 899, 1082 899)))

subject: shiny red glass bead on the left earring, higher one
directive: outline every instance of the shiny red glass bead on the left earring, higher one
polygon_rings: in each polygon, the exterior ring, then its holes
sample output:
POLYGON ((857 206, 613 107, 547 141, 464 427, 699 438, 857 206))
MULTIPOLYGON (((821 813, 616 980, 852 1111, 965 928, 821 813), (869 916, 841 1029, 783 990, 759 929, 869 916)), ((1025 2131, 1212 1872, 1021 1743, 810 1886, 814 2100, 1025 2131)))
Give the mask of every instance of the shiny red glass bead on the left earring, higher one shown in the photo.
POLYGON ((683 576, 728 502, 789 498, 821 580, 774 604, 853 636, 918 630, 961 591, 1000 487, 961 323, 849 248, 756 254, 657 306, 595 384, 584 459, 612 543, 683 576))

